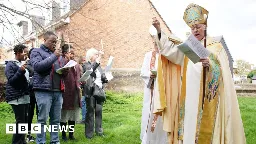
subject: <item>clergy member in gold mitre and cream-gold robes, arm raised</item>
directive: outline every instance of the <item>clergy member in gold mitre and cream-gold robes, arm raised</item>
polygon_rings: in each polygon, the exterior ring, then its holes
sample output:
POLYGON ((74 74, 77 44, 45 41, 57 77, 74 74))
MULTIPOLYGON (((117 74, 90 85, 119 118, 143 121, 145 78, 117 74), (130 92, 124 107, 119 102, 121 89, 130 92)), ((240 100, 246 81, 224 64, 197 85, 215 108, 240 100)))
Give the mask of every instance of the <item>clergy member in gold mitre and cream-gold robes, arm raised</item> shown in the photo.
MULTIPOLYGON (((190 4, 184 20, 192 34, 201 42, 205 38, 206 16, 204 8, 190 4)), ((220 41, 207 37, 210 56, 194 64, 175 42, 161 31, 158 20, 153 21, 158 31, 157 44, 161 55, 182 67, 182 86, 179 93, 177 139, 170 144, 246 144, 238 100, 232 80, 228 57, 220 41), (202 69, 206 75, 206 98, 202 97, 202 69), (203 107, 202 107, 203 106, 203 107)), ((173 115, 174 116, 174 115, 173 115)))

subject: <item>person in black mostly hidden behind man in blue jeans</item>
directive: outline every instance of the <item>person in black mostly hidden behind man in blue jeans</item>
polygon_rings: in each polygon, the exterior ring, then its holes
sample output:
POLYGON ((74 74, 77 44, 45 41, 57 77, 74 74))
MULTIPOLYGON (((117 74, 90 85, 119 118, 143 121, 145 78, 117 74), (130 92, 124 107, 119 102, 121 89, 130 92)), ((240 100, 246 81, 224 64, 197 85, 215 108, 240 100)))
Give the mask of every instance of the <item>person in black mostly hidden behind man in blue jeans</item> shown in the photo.
POLYGON ((33 91, 33 75, 34 75, 34 69, 30 62, 30 54, 34 48, 30 49, 28 52, 28 60, 26 61, 27 64, 27 70, 29 71, 29 96, 30 96, 30 104, 28 106, 28 135, 27 135, 27 142, 33 142, 35 138, 31 135, 31 124, 34 117, 34 111, 36 108, 36 115, 38 115, 38 107, 36 104, 36 98, 35 93, 33 91))

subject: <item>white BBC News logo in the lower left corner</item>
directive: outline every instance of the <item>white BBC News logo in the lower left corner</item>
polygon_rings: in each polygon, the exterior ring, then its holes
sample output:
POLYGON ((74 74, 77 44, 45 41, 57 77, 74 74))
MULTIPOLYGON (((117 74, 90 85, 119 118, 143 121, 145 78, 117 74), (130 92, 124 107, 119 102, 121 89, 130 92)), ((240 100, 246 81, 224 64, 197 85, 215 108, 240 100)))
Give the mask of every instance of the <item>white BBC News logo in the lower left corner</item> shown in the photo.
MULTIPOLYGON (((6 134, 15 134, 16 133, 16 124, 6 124, 6 134)), ((44 132, 74 132, 74 126, 58 126, 58 125, 44 125, 44 132)), ((31 134, 40 134, 42 131, 41 124, 31 124, 31 134)), ((18 124, 18 134, 27 134, 28 133, 28 124, 21 123, 18 124)))

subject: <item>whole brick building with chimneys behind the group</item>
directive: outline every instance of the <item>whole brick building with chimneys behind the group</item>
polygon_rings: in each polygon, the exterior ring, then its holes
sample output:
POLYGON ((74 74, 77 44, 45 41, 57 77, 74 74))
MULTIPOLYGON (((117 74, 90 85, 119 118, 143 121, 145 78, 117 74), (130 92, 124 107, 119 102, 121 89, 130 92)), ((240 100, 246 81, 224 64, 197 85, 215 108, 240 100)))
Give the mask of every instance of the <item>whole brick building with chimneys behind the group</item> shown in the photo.
POLYGON ((72 43, 78 56, 85 55, 91 47, 101 49, 102 40, 105 52, 103 65, 112 55, 115 57, 113 68, 138 70, 144 54, 153 48, 149 34, 152 17, 160 20, 167 34, 171 33, 150 0, 65 1, 68 6, 64 12, 61 8, 63 0, 50 3, 53 6, 50 20, 35 16, 31 32, 26 31, 29 24, 19 23, 28 46, 38 47, 42 43, 43 27, 44 30, 63 32, 65 40, 72 43))

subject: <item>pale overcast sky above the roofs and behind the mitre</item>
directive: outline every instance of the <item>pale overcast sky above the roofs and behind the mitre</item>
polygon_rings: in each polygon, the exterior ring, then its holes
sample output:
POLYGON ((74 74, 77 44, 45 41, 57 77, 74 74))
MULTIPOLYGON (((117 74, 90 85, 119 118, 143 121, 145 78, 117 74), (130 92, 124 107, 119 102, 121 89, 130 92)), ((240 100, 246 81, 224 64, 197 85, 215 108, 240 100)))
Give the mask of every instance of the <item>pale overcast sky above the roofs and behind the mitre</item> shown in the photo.
MULTIPOLYGON (((31 1, 31 0, 30 0, 31 1)), ((48 0, 33 0, 42 3, 48 0)), ((183 21, 183 13, 190 3, 196 3, 209 11, 208 34, 223 35, 233 58, 244 59, 256 65, 256 0, 152 0, 172 32, 185 39, 189 27, 183 21)), ((24 11, 21 0, 0 0, 17 10, 24 11)), ((2 11, 0 11, 2 13, 2 11)), ((31 11, 31 13, 39 13, 31 11)), ((42 14, 42 12, 40 12, 42 14)), ((13 22, 16 23, 15 19, 13 22)), ((13 39, 5 29, 5 38, 13 39)), ((0 37, 2 35, 0 26, 0 37)))

